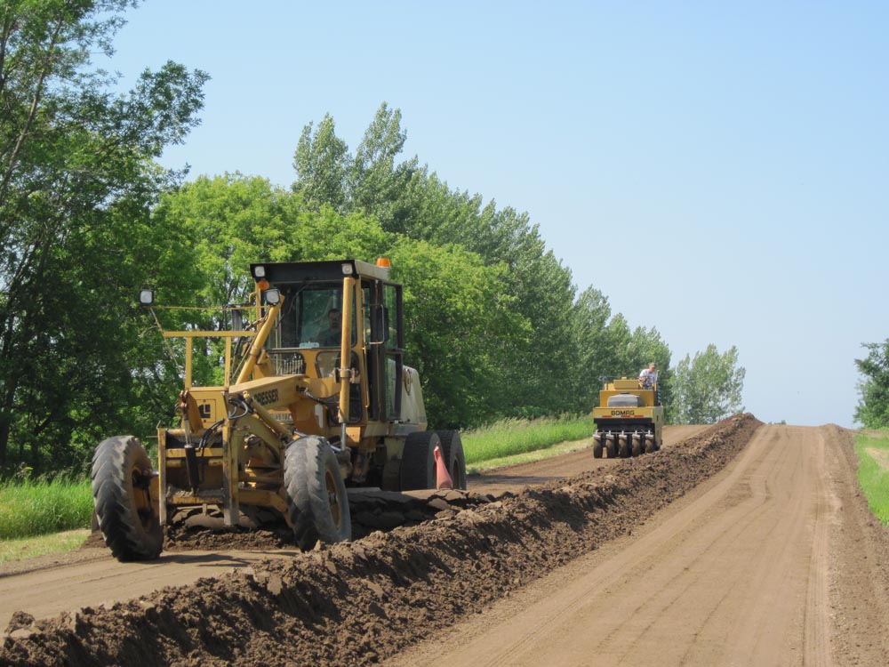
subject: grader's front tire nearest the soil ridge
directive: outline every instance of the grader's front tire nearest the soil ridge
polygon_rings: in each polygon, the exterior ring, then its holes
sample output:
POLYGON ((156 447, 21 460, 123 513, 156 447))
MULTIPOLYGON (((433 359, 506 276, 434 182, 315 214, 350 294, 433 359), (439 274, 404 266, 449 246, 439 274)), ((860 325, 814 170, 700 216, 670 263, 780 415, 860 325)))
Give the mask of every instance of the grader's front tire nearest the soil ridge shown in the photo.
POLYGON ((287 447, 284 489, 293 536, 301 550, 318 540, 332 544, 352 538, 346 484, 327 440, 306 436, 287 447))

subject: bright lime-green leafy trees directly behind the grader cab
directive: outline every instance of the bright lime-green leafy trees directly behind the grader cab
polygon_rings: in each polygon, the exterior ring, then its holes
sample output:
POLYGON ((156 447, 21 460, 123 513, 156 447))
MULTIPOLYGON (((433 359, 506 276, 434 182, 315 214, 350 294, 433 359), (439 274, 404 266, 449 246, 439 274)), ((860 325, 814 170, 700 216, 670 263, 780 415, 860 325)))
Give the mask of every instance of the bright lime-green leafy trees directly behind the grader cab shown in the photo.
MULTIPOLYGON (((530 328, 517 314, 515 300, 501 293, 504 265, 489 264, 460 245, 390 234, 364 213, 344 215, 326 203, 315 208, 301 192, 240 174, 200 177, 164 195, 152 221, 157 229, 175 230, 177 241, 189 248, 178 272, 169 263, 172 257, 156 260, 162 267, 158 277, 166 280, 158 295, 172 290, 177 301, 165 302, 192 307, 243 301, 252 289, 247 268, 254 261, 388 255, 393 277, 404 282, 406 361, 420 370, 433 426, 480 423, 508 402, 511 387, 503 369, 527 350, 530 328), (167 277, 172 272, 179 277, 176 284, 167 277), (518 349, 517 340, 523 342, 518 349)), ((227 324, 218 309, 159 311, 158 317, 167 329, 184 328, 186 322, 211 329, 227 324)), ((157 332, 150 336, 159 338, 157 332)), ((155 348, 156 354, 161 351, 155 348)), ((181 357, 180 347, 175 352, 181 357)), ((220 345, 204 343, 195 357, 198 381, 220 381, 220 357, 220 345)), ((149 362, 140 375, 155 370, 149 362)), ((171 366, 164 366, 164 377, 154 375, 151 384, 166 393, 156 419, 169 413, 177 382, 171 366)))

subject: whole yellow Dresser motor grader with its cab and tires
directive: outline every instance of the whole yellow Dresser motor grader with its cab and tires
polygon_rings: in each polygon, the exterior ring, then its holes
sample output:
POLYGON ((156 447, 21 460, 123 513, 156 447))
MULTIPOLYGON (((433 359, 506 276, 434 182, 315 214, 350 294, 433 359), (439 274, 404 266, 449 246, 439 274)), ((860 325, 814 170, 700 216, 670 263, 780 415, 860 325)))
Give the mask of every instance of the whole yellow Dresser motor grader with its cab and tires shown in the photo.
POLYGON ((251 272, 256 289, 234 311, 232 331, 164 332, 185 339, 185 389, 179 427, 157 430, 157 471, 132 436, 96 450, 95 509, 117 559, 155 559, 162 526, 180 510, 215 506, 227 526, 242 513, 255 524, 283 518, 308 550, 350 539, 348 486, 435 488, 440 459, 453 487, 466 488, 460 435, 426 430, 388 261, 262 263, 251 272), (191 386, 201 337, 225 339, 223 386, 191 386), (238 341, 249 345, 232 381, 238 341))

